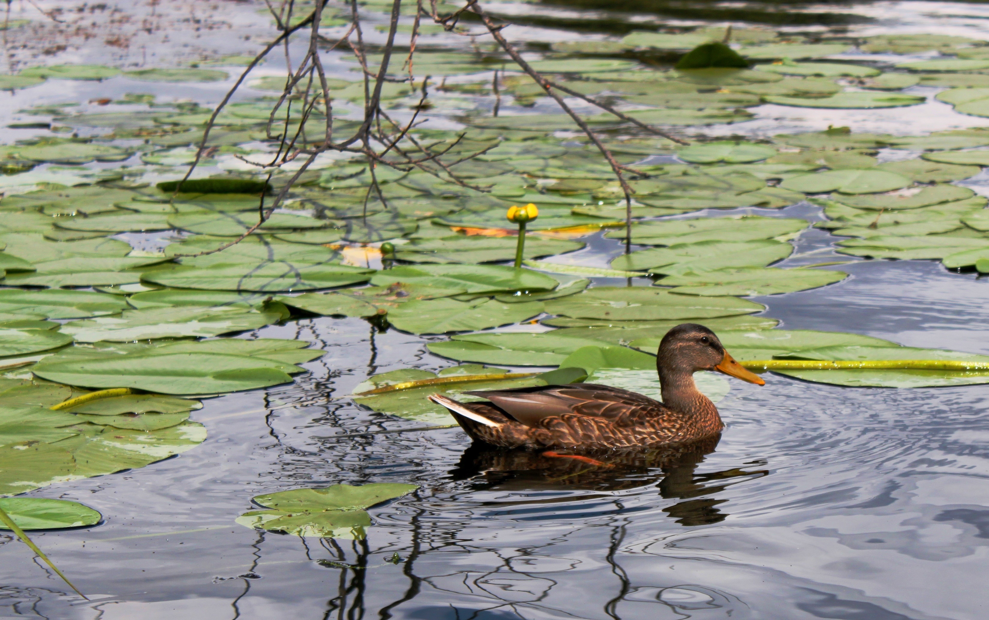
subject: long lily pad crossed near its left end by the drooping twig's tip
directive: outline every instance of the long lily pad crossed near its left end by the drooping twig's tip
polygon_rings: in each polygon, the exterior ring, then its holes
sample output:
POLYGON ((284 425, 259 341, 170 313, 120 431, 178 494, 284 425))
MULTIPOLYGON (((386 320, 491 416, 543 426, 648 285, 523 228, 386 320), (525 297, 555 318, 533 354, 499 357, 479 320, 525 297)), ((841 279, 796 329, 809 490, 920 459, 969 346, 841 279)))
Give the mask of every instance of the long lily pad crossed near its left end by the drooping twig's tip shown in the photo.
MULTIPOLYGON (((632 243, 672 246, 701 241, 756 241, 790 236, 807 226, 805 219, 759 215, 652 220, 632 225, 632 243)), ((611 231, 605 237, 624 239, 625 231, 611 231)))

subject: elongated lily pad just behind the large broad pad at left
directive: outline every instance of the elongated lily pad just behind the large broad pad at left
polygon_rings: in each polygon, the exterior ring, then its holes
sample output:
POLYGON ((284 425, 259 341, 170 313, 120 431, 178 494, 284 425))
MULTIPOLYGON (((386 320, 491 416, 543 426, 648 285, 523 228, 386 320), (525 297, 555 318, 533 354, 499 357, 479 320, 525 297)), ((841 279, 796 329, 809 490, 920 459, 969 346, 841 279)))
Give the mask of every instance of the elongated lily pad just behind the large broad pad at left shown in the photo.
POLYGON ((179 306, 125 310, 120 316, 71 321, 62 332, 79 343, 152 340, 220 336, 256 330, 281 320, 279 312, 253 308, 179 306))

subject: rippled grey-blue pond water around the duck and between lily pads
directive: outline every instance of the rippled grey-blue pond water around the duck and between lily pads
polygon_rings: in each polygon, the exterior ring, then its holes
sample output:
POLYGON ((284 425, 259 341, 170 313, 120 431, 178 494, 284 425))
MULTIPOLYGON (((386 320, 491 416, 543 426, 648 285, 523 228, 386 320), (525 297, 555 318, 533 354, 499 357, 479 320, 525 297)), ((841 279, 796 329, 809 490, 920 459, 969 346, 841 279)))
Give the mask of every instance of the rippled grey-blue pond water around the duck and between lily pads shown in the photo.
MULTIPOLYGON (((40 6, 47 10, 55 4, 40 6)), ((153 38, 137 29, 129 49, 110 49, 97 40, 66 52, 75 54, 66 59, 123 58, 135 66, 153 66, 166 53, 187 58, 197 49, 238 52, 238 37, 265 32, 266 19, 254 13, 259 6, 218 3, 202 9, 209 17, 195 19, 220 24, 216 29, 225 33, 209 31, 212 37, 190 26, 193 5, 124 7, 122 13, 135 21, 156 24, 153 38), (162 41, 168 28, 174 32, 162 41)), ((539 40, 593 38, 595 33, 628 32, 636 23, 703 19, 743 20, 792 32, 827 27, 864 34, 989 33, 989 10, 975 3, 775 6, 584 2, 545 10, 511 8, 527 16, 520 18, 526 27, 513 36, 539 40), (607 12, 615 9, 625 12, 607 12)), ((27 12, 31 5, 14 8, 27 12)), ((110 31, 104 23, 107 12, 91 11, 103 34, 110 31)), ((267 68, 277 73, 277 61, 267 68)), ((219 100, 226 85, 189 85, 178 92, 170 85, 140 86, 141 92, 207 103, 219 100)), ((20 117, 14 111, 29 105, 134 91, 134 83, 122 80, 52 81, 4 94, 7 105, 0 116, 9 122, 20 117)), ((934 94, 937 89, 914 91, 934 94)), ((853 124, 856 130, 916 134, 989 123, 956 115, 937 102, 887 111, 764 106, 754 112, 753 121, 709 132, 765 135, 853 124)), ((10 130, 6 136, 13 141, 29 133, 10 130)), ((979 179, 966 183, 989 194, 979 179)), ((820 219, 818 209, 807 203, 746 211, 820 219)), ((934 262, 858 261, 833 254, 835 241, 824 231, 808 231, 797 243, 797 254, 814 254, 796 256, 786 265, 850 260, 834 269, 851 276, 833 286, 759 298, 768 307, 765 315, 781 319, 788 329, 854 332, 912 347, 989 353, 984 278, 945 271, 934 262)), ((618 242, 594 236, 587 249, 558 260, 604 267, 620 251, 618 242)), ((106 516, 99 527, 35 535, 92 601, 70 596, 23 545, 4 536, 0 616, 986 616, 989 419, 984 410, 989 386, 851 389, 778 375, 766 375, 764 387, 734 381, 719 404, 727 427, 716 446, 706 446, 713 451, 644 454, 601 472, 569 461, 504 457, 472 448, 459 429, 325 438, 418 426, 361 410, 339 397, 369 374, 408 366, 435 370, 450 362, 425 350, 429 338, 376 333, 357 319, 305 319, 253 336, 314 341, 327 353, 305 364, 311 372, 292 385, 207 400, 193 419, 208 427, 209 439, 177 458, 33 493, 83 502, 106 516), (371 509, 376 524, 363 541, 300 539, 233 523, 258 494, 369 482, 421 488, 371 509)))

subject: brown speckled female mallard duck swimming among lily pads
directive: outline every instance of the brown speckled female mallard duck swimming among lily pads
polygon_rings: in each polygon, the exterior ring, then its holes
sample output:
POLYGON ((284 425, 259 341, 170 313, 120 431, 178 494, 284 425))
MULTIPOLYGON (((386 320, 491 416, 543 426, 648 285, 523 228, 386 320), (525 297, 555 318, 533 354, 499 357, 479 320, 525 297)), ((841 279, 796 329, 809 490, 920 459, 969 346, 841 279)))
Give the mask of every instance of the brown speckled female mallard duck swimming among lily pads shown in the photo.
POLYGON ((698 370, 718 370, 764 385, 703 325, 670 330, 656 358, 663 402, 594 383, 465 392, 487 403, 460 403, 433 394, 471 437, 502 447, 587 450, 695 441, 724 428, 718 410, 693 383, 698 370))

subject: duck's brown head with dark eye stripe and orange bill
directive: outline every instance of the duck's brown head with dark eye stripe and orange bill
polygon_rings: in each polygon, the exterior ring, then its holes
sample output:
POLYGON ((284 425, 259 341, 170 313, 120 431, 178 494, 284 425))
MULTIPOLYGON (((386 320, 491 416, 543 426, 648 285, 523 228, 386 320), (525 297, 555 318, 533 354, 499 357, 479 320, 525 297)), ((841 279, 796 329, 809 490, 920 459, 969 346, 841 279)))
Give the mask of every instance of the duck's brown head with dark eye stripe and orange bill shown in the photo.
POLYGON ((667 332, 660 342, 656 365, 666 372, 694 373, 717 370, 749 383, 765 385, 758 374, 746 370, 728 354, 714 332, 703 325, 683 323, 667 332))

